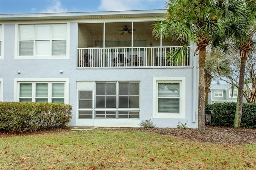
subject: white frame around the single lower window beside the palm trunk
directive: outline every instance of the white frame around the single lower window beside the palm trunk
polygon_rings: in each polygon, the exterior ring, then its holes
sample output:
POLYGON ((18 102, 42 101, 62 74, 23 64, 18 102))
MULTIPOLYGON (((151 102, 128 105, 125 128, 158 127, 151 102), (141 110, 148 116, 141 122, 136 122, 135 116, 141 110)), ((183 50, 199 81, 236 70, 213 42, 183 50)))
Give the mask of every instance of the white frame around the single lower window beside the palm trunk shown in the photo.
POLYGON ((186 78, 153 77, 153 118, 185 119, 186 118, 186 78), (179 83, 179 113, 158 113, 158 83, 179 83))

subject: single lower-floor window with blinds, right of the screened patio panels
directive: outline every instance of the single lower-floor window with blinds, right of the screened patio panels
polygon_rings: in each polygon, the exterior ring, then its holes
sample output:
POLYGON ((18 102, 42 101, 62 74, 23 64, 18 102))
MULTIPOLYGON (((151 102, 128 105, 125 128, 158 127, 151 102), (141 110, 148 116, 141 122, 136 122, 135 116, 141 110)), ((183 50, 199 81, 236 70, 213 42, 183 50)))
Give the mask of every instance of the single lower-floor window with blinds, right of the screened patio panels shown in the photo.
POLYGON ((180 83, 158 83, 158 113, 180 113, 180 83))

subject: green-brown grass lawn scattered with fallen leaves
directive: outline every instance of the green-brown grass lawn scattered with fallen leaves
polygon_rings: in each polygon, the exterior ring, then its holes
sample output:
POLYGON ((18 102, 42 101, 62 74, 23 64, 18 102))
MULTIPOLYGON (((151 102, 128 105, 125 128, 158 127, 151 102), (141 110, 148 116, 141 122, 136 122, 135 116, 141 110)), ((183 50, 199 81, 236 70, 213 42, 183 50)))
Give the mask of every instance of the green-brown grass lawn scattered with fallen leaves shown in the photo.
POLYGON ((0 170, 255 170, 256 145, 178 140, 152 132, 84 130, 0 138, 0 170))

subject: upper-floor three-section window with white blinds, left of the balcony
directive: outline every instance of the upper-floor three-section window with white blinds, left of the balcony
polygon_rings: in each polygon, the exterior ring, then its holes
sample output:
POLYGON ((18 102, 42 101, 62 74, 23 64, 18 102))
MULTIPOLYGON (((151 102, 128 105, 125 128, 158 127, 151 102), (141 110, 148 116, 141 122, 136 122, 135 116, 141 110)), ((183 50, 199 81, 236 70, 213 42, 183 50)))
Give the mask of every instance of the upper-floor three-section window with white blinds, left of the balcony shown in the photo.
POLYGON ((65 56, 66 24, 19 26, 19 56, 65 56))

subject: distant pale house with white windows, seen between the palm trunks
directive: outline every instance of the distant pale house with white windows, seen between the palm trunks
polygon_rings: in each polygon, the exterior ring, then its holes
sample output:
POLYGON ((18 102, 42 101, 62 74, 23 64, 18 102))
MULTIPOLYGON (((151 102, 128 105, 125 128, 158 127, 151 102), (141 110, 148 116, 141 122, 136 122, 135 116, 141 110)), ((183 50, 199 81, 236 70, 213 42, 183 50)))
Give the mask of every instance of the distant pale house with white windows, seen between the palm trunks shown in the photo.
POLYGON ((236 102, 238 89, 230 84, 214 83, 210 85, 209 104, 236 102))

